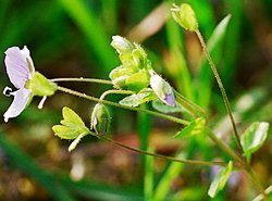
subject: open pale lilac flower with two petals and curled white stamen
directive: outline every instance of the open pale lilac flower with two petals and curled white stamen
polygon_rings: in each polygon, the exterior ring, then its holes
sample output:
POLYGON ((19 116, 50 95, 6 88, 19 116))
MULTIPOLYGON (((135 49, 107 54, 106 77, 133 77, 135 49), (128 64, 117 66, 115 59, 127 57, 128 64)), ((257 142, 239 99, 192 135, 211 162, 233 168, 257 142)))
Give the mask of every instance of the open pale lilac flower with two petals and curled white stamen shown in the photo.
POLYGON ((5 96, 14 96, 12 104, 3 114, 4 122, 8 122, 9 118, 20 115, 26 108, 32 97, 32 90, 25 88, 25 85, 26 81, 30 79, 35 68, 29 50, 26 48, 26 46, 22 50, 20 50, 18 47, 9 48, 4 53, 4 63, 8 76, 14 87, 18 89, 16 91, 12 91, 11 88, 5 87, 3 90, 5 96))

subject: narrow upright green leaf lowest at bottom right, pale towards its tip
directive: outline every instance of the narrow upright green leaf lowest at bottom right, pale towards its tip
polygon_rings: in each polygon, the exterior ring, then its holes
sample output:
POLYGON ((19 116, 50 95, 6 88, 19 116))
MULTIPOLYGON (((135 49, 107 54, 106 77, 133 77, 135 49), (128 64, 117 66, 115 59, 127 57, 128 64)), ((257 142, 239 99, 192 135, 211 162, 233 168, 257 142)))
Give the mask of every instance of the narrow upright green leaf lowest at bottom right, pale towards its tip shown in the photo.
POLYGON ((214 177, 209 188, 208 194, 214 198, 217 193, 222 190, 232 173, 233 162, 230 161, 226 167, 223 167, 214 177))

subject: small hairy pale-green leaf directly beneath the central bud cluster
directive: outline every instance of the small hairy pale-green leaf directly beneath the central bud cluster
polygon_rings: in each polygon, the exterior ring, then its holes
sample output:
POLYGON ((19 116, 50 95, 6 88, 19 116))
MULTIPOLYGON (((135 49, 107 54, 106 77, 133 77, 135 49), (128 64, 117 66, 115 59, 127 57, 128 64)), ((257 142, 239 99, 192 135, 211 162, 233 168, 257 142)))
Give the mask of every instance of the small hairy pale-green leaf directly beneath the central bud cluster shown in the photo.
POLYGON ((126 106, 138 106, 139 104, 144 104, 148 101, 154 100, 157 96, 152 91, 138 92, 132 96, 125 97, 119 103, 126 106))

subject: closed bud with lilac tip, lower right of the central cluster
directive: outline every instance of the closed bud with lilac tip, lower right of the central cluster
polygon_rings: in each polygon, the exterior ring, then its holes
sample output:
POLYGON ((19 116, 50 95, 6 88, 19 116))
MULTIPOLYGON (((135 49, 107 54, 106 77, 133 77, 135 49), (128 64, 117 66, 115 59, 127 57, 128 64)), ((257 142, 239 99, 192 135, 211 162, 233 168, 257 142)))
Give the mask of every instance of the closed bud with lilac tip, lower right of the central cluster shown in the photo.
POLYGON ((150 71, 150 87, 157 97, 165 104, 170 106, 175 106, 175 97, 172 87, 168 81, 165 81, 161 76, 150 71))

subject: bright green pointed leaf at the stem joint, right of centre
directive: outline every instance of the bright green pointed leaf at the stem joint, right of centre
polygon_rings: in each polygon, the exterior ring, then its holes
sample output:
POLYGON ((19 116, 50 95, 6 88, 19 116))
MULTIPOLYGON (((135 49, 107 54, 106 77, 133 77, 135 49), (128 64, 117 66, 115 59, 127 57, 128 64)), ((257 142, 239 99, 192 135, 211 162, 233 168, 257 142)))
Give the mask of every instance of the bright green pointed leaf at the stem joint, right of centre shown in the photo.
POLYGON ((196 118, 188 126, 186 126, 181 131, 178 131, 174 136, 174 138, 175 139, 181 139, 181 138, 184 138, 184 137, 189 137, 189 136, 195 136, 195 135, 198 135, 198 134, 202 134, 206 130, 205 124, 206 124, 205 118, 201 118, 201 117, 196 118))

